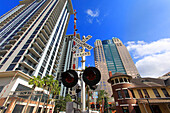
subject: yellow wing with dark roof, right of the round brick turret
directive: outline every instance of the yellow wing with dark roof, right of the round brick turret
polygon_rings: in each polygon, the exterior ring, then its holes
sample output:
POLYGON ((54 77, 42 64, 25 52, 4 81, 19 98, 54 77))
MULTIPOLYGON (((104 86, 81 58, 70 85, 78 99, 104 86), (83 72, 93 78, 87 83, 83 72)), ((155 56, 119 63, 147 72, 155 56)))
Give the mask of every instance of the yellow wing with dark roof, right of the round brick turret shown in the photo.
POLYGON ((138 78, 129 88, 142 113, 170 113, 169 79, 138 78))

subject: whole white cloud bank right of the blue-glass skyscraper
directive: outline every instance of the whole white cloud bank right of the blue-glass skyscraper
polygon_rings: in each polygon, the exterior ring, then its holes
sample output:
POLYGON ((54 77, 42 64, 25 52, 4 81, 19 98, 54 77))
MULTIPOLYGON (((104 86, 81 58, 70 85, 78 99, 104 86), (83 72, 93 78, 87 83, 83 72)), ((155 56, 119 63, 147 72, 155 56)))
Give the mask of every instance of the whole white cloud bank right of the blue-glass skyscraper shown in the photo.
POLYGON ((150 43, 130 41, 127 45, 141 76, 158 77, 170 71, 170 38, 150 43))

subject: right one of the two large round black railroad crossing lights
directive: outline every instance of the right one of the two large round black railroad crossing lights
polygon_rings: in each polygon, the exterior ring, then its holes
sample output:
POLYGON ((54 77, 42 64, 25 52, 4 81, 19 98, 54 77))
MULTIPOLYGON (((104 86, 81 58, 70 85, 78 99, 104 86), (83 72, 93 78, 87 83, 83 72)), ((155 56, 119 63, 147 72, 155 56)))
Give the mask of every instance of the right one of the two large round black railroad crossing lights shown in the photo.
POLYGON ((90 87, 96 85, 101 79, 100 71, 95 67, 88 67, 84 70, 83 80, 90 87))

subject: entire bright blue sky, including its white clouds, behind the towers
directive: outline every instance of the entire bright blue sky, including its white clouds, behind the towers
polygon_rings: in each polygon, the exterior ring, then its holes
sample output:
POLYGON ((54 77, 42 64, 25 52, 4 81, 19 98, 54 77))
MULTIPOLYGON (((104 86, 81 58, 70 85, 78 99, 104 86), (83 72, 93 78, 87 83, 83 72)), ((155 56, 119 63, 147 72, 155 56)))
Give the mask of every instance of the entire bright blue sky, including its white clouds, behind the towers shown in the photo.
MULTIPOLYGON (((0 15, 19 4, 19 0, 0 3, 0 15)), ((170 0, 72 0, 77 10, 77 28, 94 46, 96 39, 117 37, 127 46, 140 72, 157 77, 170 70, 170 0)), ((67 34, 73 33, 73 15, 67 34)), ((86 65, 94 66, 92 55, 86 65)))

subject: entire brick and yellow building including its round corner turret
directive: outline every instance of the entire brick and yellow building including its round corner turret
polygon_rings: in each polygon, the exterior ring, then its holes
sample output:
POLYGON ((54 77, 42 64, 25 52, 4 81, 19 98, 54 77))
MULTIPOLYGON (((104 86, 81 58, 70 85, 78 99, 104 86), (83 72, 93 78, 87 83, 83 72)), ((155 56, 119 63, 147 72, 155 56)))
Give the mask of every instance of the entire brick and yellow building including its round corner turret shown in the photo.
POLYGON ((117 113, 170 113, 170 78, 109 76, 117 113))

